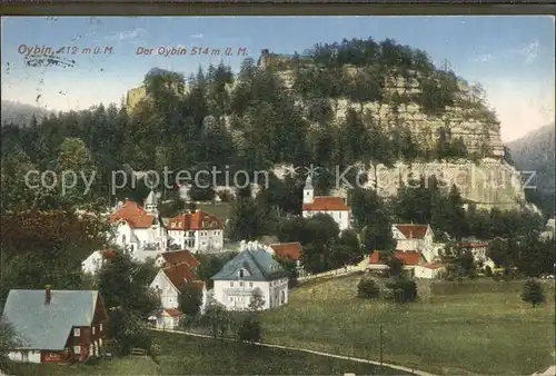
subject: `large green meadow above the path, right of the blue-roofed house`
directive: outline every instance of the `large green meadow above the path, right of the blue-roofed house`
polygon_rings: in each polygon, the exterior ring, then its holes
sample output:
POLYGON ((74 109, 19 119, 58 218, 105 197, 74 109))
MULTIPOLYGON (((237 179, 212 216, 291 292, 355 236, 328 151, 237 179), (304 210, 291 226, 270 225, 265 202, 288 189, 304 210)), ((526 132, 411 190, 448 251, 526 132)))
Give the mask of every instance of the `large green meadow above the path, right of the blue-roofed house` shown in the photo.
POLYGON ((424 283, 406 305, 355 297, 359 276, 294 290, 264 314, 265 342, 379 359, 436 374, 530 375, 554 362, 554 283, 532 308, 522 281, 424 283))

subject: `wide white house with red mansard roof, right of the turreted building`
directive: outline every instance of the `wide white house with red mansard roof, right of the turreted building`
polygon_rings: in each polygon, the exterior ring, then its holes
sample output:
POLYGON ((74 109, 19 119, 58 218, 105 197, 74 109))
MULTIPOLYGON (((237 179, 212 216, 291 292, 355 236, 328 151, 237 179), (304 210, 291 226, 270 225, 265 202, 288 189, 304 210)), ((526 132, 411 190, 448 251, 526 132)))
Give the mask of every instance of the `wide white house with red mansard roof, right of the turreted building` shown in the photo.
POLYGON ((168 221, 170 243, 201 253, 224 247, 224 221, 202 210, 177 216, 168 221))

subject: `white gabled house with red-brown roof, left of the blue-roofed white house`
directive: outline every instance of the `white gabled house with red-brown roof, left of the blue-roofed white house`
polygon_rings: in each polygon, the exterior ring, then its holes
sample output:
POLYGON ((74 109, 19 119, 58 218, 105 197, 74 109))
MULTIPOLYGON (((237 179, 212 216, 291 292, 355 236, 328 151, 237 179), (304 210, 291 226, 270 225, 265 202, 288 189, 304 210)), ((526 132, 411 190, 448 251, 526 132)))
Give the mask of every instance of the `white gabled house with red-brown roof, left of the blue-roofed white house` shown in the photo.
MULTIPOLYGON (((189 251, 186 251, 189 254, 189 251)), ((179 295, 181 288, 188 283, 192 283, 201 291, 201 313, 205 311, 207 303, 207 288, 205 283, 197 278, 195 268, 199 263, 189 254, 183 251, 161 254, 156 260, 162 268, 158 271, 150 284, 150 288, 157 291, 160 297, 162 309, 157 315, 149 317, 158 328, 176 328, 181 318, 179 310, 179 295), (175 255, 177 254, 177 255, 175 255), (195 266, 191 266, 190 264, 195 266)))

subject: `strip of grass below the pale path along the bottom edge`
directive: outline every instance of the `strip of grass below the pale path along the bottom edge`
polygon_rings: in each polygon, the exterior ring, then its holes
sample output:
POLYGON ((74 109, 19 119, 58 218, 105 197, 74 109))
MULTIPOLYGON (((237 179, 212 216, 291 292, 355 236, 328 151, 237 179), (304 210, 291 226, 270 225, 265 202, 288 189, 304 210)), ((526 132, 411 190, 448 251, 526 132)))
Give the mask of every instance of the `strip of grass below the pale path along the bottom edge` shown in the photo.
MULTIPOLYGON (((374 365, 334 359, 300 352, 257 347, 155 333, 162 355, 116 358, 91 365, 10 364, 11 375, 377 375, 374 365)), ((381 375, 400 375, 385 368, 381 375)))

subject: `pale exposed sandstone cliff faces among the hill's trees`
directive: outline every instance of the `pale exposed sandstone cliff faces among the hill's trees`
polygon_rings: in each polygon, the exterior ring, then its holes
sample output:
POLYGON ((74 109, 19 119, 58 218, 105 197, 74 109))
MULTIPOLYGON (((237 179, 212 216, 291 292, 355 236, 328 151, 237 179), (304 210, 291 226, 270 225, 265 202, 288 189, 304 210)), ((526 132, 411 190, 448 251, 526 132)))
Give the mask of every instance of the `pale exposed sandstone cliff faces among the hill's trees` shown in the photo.
MULTIPOLYGON (((288 56, 267 55, 262 57, 266 66, 280 70, 279 76, 288 87, 292 87, 295 72, 289 68, 288 56)), ((307 59, 304 60, 307 65, 307 59)), ((347 68, 357 71, 356 68, 347 68)), ((460 137, 474 160, 441 160, 435 162, 398 162, 393 168, 384 165, 370 165, 365 169, 367 182, 365 188, 375 188, 381 197, 393 197, 397 194, 400 179, 406 184, 413 178, 435 175, 447 189, 454 184, 463 198, 477 208, 493 207, 519 209, 527 207, 537 210, 533 205, 525 205, 523 177, 515 167, 504 160, 504 145, 500 138, 499 122, 492 109, 486 106, 484 92, 479 85, 469 85, 464 79, 457 80, 457 95, 454 106, 446 107, 441 113, 430 116, 424 113, 420 106, 413 100, 405 103, 394 103, 394 96, 415 98, 420 92, 423 80, 403 78, 391 75, 385 82, 387 95, 383 102, 366 102, 360 106, 376 123, 385 130, 391 130, 401 125, 411 131, 420 145, 434 145, 433 135, 440 128, 449 129, 453 137, 460 137), (480 157, 477 157, 480 156, 480 157)), ((360 103, 359 103, 360 105, 360 103)), ((349 107, 358 107, 347 99, 335 101, 336 117, 342 118, 349 107)), ((274 172, 282 178, 287 171, 284 166, 277 166, 274 172)), ((337 174, 336 174, 337 175, 337 174)), ((341 182, 341 181, 340 181, 341 182)), ((346 196, 347 187, 336 187, 332 195, 346 196)))

